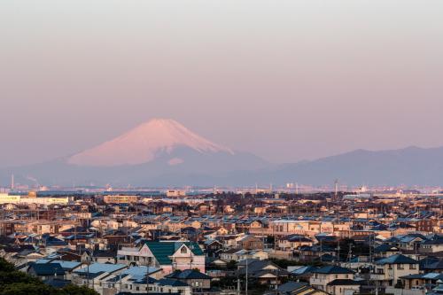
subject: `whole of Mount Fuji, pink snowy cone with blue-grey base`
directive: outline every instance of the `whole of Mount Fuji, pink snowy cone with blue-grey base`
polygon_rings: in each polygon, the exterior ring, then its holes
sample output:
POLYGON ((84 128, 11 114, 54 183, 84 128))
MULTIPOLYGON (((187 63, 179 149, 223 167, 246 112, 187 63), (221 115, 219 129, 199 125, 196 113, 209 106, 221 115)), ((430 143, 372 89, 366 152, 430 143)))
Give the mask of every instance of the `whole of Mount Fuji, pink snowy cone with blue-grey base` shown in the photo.
POLYGON ((251 153, 214 144, 175 120, 153 119, 86 151, 3 169, 0 175, 45 185, 169 186, 210 184, 232 172, 247 174, 269 166, 251 153))

